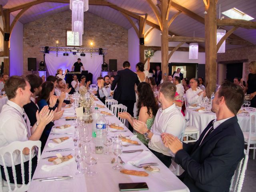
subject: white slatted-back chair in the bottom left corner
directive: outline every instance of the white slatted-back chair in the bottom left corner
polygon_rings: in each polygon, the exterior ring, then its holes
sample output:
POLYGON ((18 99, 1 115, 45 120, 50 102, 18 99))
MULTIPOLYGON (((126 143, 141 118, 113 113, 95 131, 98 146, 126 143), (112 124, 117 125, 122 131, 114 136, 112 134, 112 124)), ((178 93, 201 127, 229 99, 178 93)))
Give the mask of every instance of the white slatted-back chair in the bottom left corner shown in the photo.
MULTIPOLYGON (((4 167, 4 174, 6 181, 2 179, 2 176, 0 176, 0 190, 1 192, 3 191, 16 191, 16 192, 24 192, 28 190, 28 187, 31 182, 31 172, 32 172, 32 148, 34 146, 38 147, 38 158, 37 158, 37 163, 40 160, 41 156, 41 141, 15 141, 9 144, 8 146, 4 146, 0 148, 0 156, 3 162, 3 167, 4 167), (25 178, 24 178, 24 159, 23 155, 20 155, 20 166, 21 166, 21 172, 22 172, 22 184, 17 184, 17 179, 16 179, 16 170, 15 170, 15 165, 14 165, 14 159, 13 159, 13 152, 17 153, 16 150, 19 151, 20 154, 22 154, 22 151, 24 148, 29 149, 29 182, 28 184, 25 184, 25 178), (14 184, 10 183, 9 175, 8 175, 8 170, 6 168, 6 163, 4 161, 4 155, 8 153, 10 154, 11 162, 12 162, 12 174, 14 178, 14 184)), ((5 159, 7 157, 5 156, 5 159)), ((1 172, 1 171, 0 171, 1 172)))

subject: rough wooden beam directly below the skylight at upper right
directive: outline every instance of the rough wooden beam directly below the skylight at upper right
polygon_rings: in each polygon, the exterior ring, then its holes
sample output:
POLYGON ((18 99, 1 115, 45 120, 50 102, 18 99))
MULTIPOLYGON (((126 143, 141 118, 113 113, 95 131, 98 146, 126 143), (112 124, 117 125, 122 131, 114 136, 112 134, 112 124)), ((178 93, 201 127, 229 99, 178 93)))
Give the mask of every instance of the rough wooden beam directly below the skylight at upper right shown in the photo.
POLYGON ((242 19, 216 19, 216 24, 218 26, 239 26, 246 29, 256 29, 256 22, 242 19))

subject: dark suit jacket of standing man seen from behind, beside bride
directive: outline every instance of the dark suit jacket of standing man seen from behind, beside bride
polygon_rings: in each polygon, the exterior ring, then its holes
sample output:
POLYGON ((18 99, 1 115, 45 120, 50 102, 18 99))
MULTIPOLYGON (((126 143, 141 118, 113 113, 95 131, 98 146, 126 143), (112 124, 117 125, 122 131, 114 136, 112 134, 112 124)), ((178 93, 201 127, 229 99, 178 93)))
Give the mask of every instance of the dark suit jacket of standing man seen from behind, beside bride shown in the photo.
POLYGON ((132 100, 136 102, 134 85, 138 85, 139 83, 137 74, 132 70, 125 68, 124 70, 118 71, 111 86, 111 90, 114 90, 116 87, 114 99, 132 100))

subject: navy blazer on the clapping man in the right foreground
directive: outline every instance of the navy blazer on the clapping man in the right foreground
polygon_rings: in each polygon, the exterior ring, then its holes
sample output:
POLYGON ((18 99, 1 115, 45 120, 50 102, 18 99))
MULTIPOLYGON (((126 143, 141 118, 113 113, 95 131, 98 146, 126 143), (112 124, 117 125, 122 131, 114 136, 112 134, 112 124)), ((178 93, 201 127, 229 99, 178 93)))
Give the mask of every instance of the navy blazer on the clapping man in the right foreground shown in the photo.
POLYGON ((185 170, 180 177, 191 192, 228 192, 234 171, 244 156, 244 136, 237 117, 220 124, 202 141, 212 122, 196 144, 183 143, 183 150, 175 155, 174 161, 185 170))

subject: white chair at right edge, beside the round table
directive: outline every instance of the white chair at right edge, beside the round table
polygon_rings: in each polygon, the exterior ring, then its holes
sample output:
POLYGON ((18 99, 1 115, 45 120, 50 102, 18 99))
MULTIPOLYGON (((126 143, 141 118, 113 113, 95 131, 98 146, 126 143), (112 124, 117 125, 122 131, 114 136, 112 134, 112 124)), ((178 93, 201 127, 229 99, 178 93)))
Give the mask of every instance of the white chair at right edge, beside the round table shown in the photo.
POLYGON ((256 149, 256 112, 250 113, 250 131, 243 132, 244 142, 247 143, 246 153, 249 155, 249 150, 253 149, 253 159, 255 159, 256 149), (253 145, 252 147, 250 145, 253 145))

